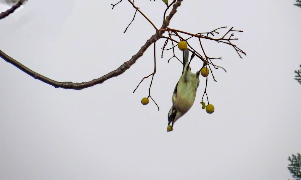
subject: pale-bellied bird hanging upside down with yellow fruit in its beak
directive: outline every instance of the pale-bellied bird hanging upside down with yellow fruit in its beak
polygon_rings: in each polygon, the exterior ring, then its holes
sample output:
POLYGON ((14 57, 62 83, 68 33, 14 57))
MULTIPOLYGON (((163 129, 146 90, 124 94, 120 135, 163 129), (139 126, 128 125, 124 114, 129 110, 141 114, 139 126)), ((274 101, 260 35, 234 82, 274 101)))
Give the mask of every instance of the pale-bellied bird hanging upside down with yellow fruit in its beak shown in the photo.
MULTIPOLYGON (((188 49, 183 51, 183 70, 182 75, 175 85, 175 90, 172 94, 172 107, 168 113, 168 126, 167 132, 173 130, 174 123, 182 117, 191 108, 194 103, 195 96, 197 94, 197 88, 200 84, 200 71, 196 73, 191 72, 190 62, 194 57, 191 55, 191 59, 188 63, 189 51, 188 49), (172 125, 170 126, 170 123, 172 125)), ((203 66, 204 67, 204 66, 203 66)), ((202 68, 203 68, 202 67, 202 68)), ((201 68, 201 69, 202 69, 201 68)))

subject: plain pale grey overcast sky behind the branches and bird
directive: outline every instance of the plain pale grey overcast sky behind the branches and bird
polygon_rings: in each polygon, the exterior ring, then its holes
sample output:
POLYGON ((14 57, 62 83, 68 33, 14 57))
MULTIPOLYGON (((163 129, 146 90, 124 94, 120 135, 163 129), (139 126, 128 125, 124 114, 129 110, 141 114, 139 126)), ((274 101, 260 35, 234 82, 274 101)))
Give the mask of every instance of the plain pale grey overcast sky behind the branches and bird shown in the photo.
MULTIPOLYGON (((9 6, 0 0, 0 11, 9 6)), ((128 61, 154 28, 124 0, 31 0, 0 20, 0 49, 57 81, 87 82, 128 61)), ((136 0, 157 27, 165 4, 136 0)), ((300 16, 295 1, 184 0, 170 28, 190 33, 234 26, 240 59, 226 45, 203 41, 222 69, 209 75, 213 114, 194 106, 167 133, 167 113, 182 65, 165 40, 124 74, 81 91, 54 88, 0 59, 0 179, 291 179, 288 156, 301 152, 300 16)), ((221 34, 228 29, 221 30, 221 34)), ((199 52, 198 41, 188 41, 199 52)), ((176 55, 182 57, 177 48, 176 55)), ((195 58, 192 70, 202 62, 195 58)), ((205 101, 206 102, 206 101, 205 101)))

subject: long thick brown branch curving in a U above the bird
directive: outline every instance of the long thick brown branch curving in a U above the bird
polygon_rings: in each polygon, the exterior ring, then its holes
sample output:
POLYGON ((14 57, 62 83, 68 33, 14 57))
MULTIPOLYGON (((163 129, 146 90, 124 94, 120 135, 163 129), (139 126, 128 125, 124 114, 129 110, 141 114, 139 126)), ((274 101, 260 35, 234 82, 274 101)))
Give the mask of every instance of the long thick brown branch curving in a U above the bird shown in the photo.
MULTIPOLYGON (((173 4, 173 8, 172 8, 171 12, 169 13, 169 15, 167 16, 166 20, 163 21, 161 29, 166 29, 167 28, 172 16, 177 12, 177 8, 181 5, 181 2, 182 2, 182 0, 177 0, 177 2, 175 4, 173 4)), ((123 63, 116 70, 113 70, 110 73, 107 73, 106 75, 101 76, 98 79, 93 79, 92 81, 89 81, 89 82, 77 83, 77 82, 58 82, 58 81, 54 81, 52 79, 49 79, 49 78, 47 78, 47 77, 45 77, 45 76, 43 76, 39 73, 34 72, 33 70, 27 68, 26 66, 19 63, 15 59, 11 58, 10 56, 5 54, 1 50, 0 50, 0 57, 2 57, 5 61, 13 64, 14 66, 19 68, 20 70, 24 71, 28 75, 32 76, 33 78, 39 79, 39 80, 41 80, 41 81, 43 81, 43 82, 45 82, 49 85, 52 85, 56 88, 81 90, 81 89, 88 88, 88 87, 91 87, 91 86, 96 85, 96 84, 101 84, 104 81, 106 81, 107 79, 119 76, 120 74, 124 73, 127 69, 129 69, 138 60, 138 58, 140 58, 143 55, 143 53, 146 51, 146 49, 149 46, 151 46, 151 44, 153 44, 158 39, 163 37, 162 36, 163 33, 164 33, 164 31, 157 31, 154 35, 152 35, 152 37, 149 40, 146 41, 146 43, 141 47, 141 49, 135 55, 132 56, 132 58, 129 61, 126 61, 125 63, 123 63)))

